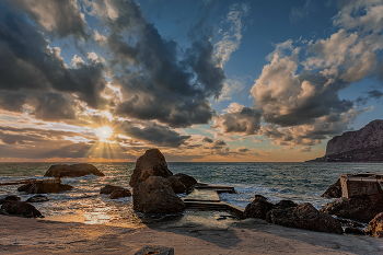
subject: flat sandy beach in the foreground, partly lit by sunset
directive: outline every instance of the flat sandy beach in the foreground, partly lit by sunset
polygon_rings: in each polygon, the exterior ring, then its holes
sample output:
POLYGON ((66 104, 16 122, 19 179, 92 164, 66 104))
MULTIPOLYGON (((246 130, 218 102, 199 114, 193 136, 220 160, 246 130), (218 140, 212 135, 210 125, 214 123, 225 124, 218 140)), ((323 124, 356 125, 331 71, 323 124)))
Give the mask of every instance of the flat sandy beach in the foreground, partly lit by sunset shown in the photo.
POLYGON ((146 245, 175 254, 383 254, 383 240, 327 234, 258 219, 175 220, 120 228, 0 216, 0 254, 135 254, 146 245))

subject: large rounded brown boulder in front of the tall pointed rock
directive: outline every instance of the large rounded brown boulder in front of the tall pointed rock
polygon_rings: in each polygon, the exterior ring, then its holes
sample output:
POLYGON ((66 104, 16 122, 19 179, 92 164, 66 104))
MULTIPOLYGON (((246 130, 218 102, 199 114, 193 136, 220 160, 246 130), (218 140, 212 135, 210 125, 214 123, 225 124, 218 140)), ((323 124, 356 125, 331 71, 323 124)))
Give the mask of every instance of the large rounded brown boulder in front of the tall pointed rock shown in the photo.
POLYGON ((134 187, 134 209, 146 213, 171 213, 185 209, 183 200, 173 192, 171 182, 150 176, 134 187))

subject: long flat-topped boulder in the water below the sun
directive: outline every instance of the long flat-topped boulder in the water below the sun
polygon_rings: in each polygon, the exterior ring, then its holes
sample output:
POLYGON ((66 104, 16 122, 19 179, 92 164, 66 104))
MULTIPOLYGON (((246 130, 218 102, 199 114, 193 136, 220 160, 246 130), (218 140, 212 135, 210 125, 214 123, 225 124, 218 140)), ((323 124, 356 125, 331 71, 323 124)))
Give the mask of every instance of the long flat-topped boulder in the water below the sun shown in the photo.
POLYGON ((94 165, 80 163, 80 164, 56 164, 51 165, 45 173, 45 177, 81 177, 84 175, 93 174, 96 176, 105 176, 94 165))

